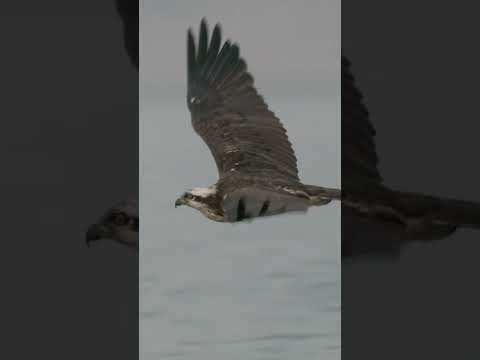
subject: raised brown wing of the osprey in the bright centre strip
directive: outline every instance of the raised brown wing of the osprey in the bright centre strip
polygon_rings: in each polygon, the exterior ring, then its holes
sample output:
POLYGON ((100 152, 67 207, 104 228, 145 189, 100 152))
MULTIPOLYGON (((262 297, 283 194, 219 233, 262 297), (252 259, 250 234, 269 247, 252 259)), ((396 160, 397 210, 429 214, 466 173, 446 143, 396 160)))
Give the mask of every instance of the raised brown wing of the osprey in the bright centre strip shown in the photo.
POLYGON ((297 160, 284 127, 257 93, 238 45, 221 43, 219 24, 209 39, 203 19, 197 45, 188 31, 188 109, 220 178, 235 171, 298 181, 297 160))

